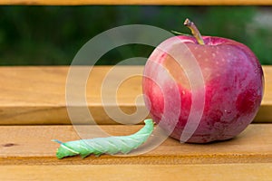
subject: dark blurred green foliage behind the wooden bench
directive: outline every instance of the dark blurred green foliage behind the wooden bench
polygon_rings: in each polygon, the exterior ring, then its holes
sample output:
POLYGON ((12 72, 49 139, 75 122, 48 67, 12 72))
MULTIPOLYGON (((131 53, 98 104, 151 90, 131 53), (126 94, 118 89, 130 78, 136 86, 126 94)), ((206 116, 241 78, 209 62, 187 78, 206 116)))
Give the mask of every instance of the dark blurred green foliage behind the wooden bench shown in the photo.
MULTIPOLYGON (((262 64, 272 64, 270 6, 0 6, 0 65, 69 65, 93 36, 125 24, 149 24, 189 33, 189 17, 202 34, 245 43, 262 64)), ((97 64, 148 57, 153 47, 131 44, 97 64)))

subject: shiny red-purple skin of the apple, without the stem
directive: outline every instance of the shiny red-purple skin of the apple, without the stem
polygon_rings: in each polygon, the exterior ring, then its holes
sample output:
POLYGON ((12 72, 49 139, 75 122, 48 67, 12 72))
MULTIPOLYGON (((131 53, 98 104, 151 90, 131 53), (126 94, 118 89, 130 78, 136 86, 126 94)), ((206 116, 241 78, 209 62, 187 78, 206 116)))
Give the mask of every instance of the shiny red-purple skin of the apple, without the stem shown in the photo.
MULTIPOLYGON (((185 142, 208 143, 234 138, 255 118, 263 97, 264 77, 257 57, 246 45, 221 37, 202 36, 204 45, 199 44, 193 36, 186 35, 171 37, 163 43, 171 46, 176 37, 186 44, 196 58, 205 85, 205 104, 199 126, 185 142)), ((181 102, 177 104, 174 100, 167 100, 170 101, 168 110, 178 109, 180 116, 175 125, 171 125, 171 116, 164 118, 160 127, 173 130, 170 137, 180 140, 191 109, 189 79, 168 53, 156 48, 145 65, 142 90, 151 118, 157 124, 165 106, 163 92, 171 94, 167 90, 173 84, 170 80, 174 80, 178 86, 181 102), (167 76, 163 74, 160 83, 154 81, 161 71, 155 64, 169 71, 167 76), (174 129, 170 129, 169 125, 174 129)))

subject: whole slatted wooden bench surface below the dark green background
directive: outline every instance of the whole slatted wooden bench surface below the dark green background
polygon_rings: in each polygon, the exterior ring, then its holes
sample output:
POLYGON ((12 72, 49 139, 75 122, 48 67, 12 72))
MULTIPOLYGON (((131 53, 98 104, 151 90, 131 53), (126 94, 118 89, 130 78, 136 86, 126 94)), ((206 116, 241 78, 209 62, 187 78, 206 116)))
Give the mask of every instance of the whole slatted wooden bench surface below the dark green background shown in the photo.
MULTIPOLYGON (((77 67, 84 70, 88 67, 77 67)), ((118 106, 135 111, 142 66, 114 67, 108 78, 135 76, 116 90, 118 106)), ((69 67, 0 67, 0 180, 272 180, 272 67, 263 66, 265 95, 256 119, 237 138, 206 145, 167 138, 159 147, 133 157, 55 157, 62 141, 79 139, 68 117, 65 82, 69 67)), ((92 69, 86 82, 88 109, 101 129, 128 135, 143 126, 120 125, 102 106, 102 81, 110 66, 92 69)), ((79 109, 83 105, 76 104, 79 109)), ((144 108, 139 100, 137 105, 144 108)), ((111 105, 107 105, 110 106, 111 105)), ((80 122, 81 128, 95 127, 80 122)))

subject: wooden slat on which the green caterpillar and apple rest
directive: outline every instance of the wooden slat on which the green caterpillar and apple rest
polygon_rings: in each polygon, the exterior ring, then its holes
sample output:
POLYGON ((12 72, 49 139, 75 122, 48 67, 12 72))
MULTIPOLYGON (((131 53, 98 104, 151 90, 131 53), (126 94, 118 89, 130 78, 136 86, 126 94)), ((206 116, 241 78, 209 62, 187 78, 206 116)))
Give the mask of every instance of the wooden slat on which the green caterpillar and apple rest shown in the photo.
MULTIPOLYGON (((92 129, 93 126, 80 127, 92 129)), ((100 128, 111 135, 128 135, 141 127, 115 125, 100 128)), ((251 124, 237 138, 206 145, 181 144, 168 138, 161 145, 154 146, 152 143, 157 138, 151 137, 150 143, 141 150, 152 149, 134 157, 102 155, 57 159, 54 155, 59 145, 51 139, 75 140, 80 138, 78 133, 81 132, 76 132, 73 126, 1 126, 0 165, 272 163, 272 124, 251 124)))

